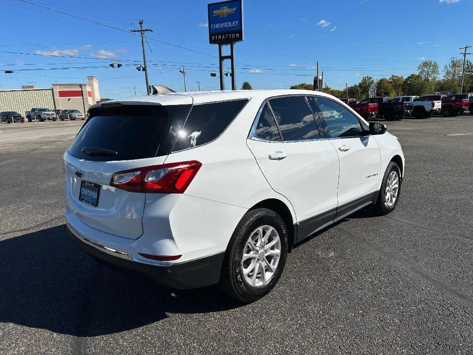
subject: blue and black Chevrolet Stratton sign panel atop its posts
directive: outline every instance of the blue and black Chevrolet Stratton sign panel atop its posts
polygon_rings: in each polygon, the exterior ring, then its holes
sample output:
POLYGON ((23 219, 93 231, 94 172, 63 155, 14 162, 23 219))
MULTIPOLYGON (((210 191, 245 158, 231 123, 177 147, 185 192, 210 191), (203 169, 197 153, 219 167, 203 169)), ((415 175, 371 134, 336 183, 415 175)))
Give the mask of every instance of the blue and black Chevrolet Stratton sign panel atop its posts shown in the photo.
POLYGON ((243 8, 241 0, 223 1, 207 5, 209 42, 228 45, 243 40, 243 8))

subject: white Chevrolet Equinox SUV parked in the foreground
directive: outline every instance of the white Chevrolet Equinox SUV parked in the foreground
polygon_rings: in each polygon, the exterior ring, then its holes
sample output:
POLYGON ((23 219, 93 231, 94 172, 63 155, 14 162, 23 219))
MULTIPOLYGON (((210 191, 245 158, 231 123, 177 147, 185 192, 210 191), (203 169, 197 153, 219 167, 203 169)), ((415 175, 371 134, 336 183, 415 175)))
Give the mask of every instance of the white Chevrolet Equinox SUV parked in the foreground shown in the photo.
POLYGON ((397 138, 321 92, 152 95, 89 115, 63 157, 71 237, 177 289, 255 301, 295 244, 399 199, 397 138))

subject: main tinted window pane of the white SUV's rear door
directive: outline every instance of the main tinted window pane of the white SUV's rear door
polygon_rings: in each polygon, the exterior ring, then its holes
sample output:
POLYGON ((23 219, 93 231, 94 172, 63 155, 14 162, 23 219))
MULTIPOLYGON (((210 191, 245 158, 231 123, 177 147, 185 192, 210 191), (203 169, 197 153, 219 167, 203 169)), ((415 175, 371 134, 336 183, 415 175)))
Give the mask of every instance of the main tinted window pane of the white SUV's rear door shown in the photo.
POLYGON ((290 96, 269 100, 284 141, 320 138, 319 129, 305 97, 290 96))

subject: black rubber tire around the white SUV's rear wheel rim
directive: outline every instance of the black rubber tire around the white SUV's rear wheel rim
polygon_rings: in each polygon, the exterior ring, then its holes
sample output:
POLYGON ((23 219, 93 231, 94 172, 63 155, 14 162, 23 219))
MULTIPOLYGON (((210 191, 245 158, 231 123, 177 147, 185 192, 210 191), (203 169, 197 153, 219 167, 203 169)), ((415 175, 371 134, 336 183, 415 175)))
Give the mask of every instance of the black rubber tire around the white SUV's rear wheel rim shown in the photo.
MULTIPOLYGON (((266 295, 281 277, 287 258, 287 228, 282 218, 267 208, 250 210, 241 218, 227 247, 220 274, 220 287, 229 296, 246 303, 257 301, 266 295), (279 234, 281 252, 279 262, 271 279, 262 286, 253 286, 244 280, 241 259, 247 240, 262 226, 273 227, 279 234)), ((269 270, 269 269, 268 269, 269 270)), ((257 272, 257 275, 259 272, 257 272)))

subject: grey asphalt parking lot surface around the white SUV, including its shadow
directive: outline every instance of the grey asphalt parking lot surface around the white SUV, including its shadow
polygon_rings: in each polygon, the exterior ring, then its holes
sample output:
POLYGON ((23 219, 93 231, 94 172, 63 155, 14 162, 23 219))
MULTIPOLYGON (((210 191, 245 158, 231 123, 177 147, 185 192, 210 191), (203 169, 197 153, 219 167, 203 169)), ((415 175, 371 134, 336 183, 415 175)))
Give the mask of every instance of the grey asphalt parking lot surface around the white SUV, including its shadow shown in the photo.
POLYGON ((249 305, 72 245, 61 156, 81 124, 0 126, 0 353, 473 353, 473 116, 386 122, 407 160, 397 209, 304 242, 249 305))

